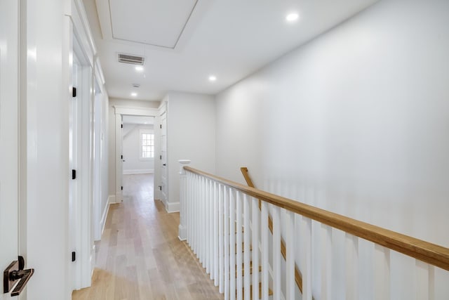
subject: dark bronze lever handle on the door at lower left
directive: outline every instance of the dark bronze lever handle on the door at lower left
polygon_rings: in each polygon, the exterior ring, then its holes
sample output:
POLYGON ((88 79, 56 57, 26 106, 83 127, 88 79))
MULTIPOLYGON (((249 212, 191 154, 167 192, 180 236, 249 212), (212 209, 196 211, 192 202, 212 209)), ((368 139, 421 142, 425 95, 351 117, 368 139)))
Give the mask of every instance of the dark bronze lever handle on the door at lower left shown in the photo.
POLYGON ((3 292, 11 292, 11 296, 18 296, 25 289, 29 278, 34 274, 34 269, 25 268, 23 256, 19 256, 17 261, 13 261, 3 273, 3 292))

